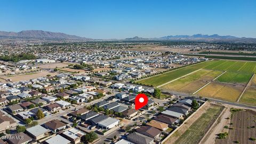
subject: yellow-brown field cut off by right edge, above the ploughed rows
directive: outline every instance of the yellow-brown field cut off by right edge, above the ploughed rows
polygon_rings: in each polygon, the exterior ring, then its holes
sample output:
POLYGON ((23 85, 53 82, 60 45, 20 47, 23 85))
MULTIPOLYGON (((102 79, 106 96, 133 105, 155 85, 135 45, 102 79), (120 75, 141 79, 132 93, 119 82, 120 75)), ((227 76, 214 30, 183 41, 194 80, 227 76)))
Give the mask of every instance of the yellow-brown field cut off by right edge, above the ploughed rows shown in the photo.
POLYGON ((256 87, 248 86, 239 102, 256 105, 256 87))

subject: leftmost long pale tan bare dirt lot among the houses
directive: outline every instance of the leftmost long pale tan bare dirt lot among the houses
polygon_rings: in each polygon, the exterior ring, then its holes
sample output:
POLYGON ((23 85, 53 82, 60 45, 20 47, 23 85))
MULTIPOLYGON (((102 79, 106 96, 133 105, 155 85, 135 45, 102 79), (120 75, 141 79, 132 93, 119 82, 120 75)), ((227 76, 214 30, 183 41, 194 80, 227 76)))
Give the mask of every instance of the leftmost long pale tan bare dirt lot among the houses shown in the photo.
POLYGON ((12 82, 18 82, 18 81, 27 81, 31 78, 43 77, 43 76, 46 76, 46 75, 55 76, 55 75, 57 75, 57 73, 50 73, 48 71, 41 71, 41 72, 29 73, 29 74, 25 74, 25 75, 17 75, 17 76, 11 76, 11 77, 3 76, 3 78, 12 79, 12 82))

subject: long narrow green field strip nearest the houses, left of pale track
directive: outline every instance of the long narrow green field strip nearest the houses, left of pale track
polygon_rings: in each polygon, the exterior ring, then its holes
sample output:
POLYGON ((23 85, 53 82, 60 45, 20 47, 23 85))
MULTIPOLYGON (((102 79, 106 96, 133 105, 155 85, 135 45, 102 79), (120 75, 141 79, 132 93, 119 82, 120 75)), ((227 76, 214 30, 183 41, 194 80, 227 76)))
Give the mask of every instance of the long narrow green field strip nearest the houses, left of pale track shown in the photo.
POLYGON ((158 85, 170 82, 173 79, 187 75, 195 70, 197 70, 197 68, 192 68, 192 67, 180 68, 180 69, 176 69, 176 70, 164 73, 162 75, 157 75, 147 79, 143 79, 141 81, 138 81, 138 83, 158 86, 158 85))

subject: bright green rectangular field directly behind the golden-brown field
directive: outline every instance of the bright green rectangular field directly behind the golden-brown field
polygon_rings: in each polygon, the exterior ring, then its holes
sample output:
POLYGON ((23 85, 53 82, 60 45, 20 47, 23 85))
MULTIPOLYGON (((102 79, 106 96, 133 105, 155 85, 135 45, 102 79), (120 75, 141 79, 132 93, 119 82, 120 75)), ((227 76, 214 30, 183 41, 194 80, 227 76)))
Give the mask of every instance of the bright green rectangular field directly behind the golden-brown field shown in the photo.
POLYGON ((252 74, 250 73, 237 73, 233 71, 227 71, 225 74, 217 78, 218 82, 222 83, 242 83, 246 84, 250 81, 252 74))

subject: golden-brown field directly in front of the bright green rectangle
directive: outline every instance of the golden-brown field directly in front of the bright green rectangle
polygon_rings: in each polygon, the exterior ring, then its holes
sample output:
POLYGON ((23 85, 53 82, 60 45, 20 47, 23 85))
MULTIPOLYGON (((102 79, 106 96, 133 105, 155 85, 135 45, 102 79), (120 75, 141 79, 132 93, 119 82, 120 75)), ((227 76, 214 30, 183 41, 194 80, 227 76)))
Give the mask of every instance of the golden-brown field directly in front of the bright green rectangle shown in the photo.
POLYGON ((239 95, 243 92, 244 86, 235 84, 225 84, 212 82, 198 91, 196 95, 203 97, 217 98, 228 101, 236 101, 239 95))

